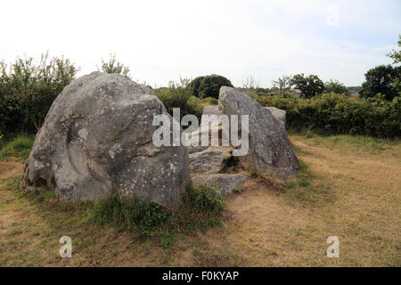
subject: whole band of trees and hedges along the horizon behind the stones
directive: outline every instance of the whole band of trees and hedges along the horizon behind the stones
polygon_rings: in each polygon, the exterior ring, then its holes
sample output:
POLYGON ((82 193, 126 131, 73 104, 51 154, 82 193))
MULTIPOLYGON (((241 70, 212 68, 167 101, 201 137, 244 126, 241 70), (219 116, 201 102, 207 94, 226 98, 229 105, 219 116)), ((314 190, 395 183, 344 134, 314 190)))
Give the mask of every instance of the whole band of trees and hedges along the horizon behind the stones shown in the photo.
MULTIPOLYGON (((129 76, 128 67, 114 55, 102 61, 101 71, 129 76)), ((35 134, 53 100, 77 72, 78 67, 68 59, 49 59, 47 53, 38 64, 32 58, 19 58, 11 65, 0 61, 0 135, 35 134)), ((370 69, 365 77, 362 86, 346 87, 337 80, 323 83, 316 75, 298 74, 274 80, 272 88, 263 88, 257 79, 247 77, 240 89, 263 105, 286 110, 291 127, 322 128, 340 134, 399 136, 401 67, 379 66, 370 69), (300 99, 289 92, 294 88, 300 90, 300 99), (352 91, 359 91, 362 98, 349 99, 352 91)), ((222 85, 233 86, 228 78, 212 74, 170 82, 153 92, 168 112, 181 108, 182 116, 200 117, 204 105, 217 104, 222 85)))

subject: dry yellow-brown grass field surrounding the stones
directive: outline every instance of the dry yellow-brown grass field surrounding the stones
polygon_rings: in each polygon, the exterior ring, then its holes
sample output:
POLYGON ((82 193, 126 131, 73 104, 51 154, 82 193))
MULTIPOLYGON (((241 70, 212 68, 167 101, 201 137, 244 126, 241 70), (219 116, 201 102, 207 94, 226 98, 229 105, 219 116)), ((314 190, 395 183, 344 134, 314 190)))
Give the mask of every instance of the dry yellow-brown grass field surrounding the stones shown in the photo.
POLYGON ((0 165, 0 265, 400 266, 401 144, 292 135, 299 177, 280 187, 252 178, 227 199, 223 226, 153 240, 88 224, 85 205, 60 207, 7 186, 21 165, 0 165), (307 167, 305 167, 305 165, 307 167), (13 166, 13 167, 12 167, 13 166), (73 257, 61 258, 69 235, 73 257), (340 258, 326 239, 340 239, 340 258))

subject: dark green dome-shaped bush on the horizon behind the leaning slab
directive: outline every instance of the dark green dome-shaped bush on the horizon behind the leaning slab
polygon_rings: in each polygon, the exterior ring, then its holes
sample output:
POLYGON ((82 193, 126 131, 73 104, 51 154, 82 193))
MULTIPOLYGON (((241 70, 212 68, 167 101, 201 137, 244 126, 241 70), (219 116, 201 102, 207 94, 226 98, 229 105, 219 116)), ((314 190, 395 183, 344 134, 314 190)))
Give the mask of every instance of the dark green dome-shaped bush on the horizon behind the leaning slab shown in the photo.
POLYGON ((212 97, 218 99, 221 86, 233 87, 231 81, 217 74, 206 77, 196 77, 188 85, 192 95, 199 98, 212 97))

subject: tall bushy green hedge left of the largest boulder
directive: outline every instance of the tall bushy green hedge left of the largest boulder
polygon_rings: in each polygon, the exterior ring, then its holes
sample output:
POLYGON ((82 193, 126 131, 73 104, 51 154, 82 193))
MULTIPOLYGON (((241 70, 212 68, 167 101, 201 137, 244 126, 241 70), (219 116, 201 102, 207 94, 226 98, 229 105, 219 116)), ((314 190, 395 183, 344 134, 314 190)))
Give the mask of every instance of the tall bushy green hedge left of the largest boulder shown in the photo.
POLYGON ((0 133, 36 133, 54 99, 77 72, 62 57, 48 61, 47 53, 38 65, 32 58, 17 59, 9 68, 0 62, 0 133))

